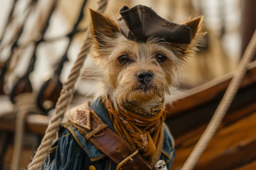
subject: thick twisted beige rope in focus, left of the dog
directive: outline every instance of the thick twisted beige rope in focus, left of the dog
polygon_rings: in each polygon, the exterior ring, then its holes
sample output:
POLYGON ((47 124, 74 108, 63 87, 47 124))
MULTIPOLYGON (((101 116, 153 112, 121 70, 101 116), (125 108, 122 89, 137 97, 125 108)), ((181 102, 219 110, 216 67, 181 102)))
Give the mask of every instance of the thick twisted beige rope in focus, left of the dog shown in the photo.
MULTIPOLYGON (((100 0, 98 2, 97 11, 103 12, 105 11, 107 6, 107 0, 100 0)), ((51 118, 48 127, 45 131, 45 135, 41 141, 41 144, 37 148, 36 154, 28 165, 28 170, 41 169, 41 166, 46 159, 48 150, 52 146, 52 142, 56 137, 56 133, 58 132, 60 122, 63 119, 63 115, 67 110, 68 104, 73 98, 74 85, 79 77, 80 70, 83 66, 84 60, 86 58, 87 52, 90 49, 91 39, 89 37, 90 29, 87 29, 85 32, 85 41, 83 47, 80 50, 79 55, 68 75, 68 80, 60 92, 60 97, 56 103, 56 108, 54 110, 54 116, 51 118)))

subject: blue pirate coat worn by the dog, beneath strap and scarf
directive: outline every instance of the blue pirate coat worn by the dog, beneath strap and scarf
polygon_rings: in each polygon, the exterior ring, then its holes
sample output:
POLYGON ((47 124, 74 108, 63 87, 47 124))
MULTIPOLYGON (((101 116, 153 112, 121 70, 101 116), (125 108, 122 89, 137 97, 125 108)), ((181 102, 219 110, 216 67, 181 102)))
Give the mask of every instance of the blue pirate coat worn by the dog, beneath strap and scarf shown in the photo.
MULTIPOLYGON (((70 116, 72 117, 74 115, 73 113, 80 107, 82 107, 82 105, 74 107, 67 112, 69 121, 60 128, 59 138, 52 145, 47 159, 42 166, 42 170, 87 170, 89 166, 94 166, 96 170, 116 169, 116 164, 113 163, 110 158, 97 149, 92 143, 86 141, 84 136, 72 126, 73 119, 70 118, 70 116)), ((104 104, 102 102, 92 102, 90 107, 100 119, 115 132, 104 104)), ((170 169, 175 154, 174 141, 165 123, 162 141, 163 147, 158 149, 160 152, 159 160, 164 160, 167 168, 170 169)))

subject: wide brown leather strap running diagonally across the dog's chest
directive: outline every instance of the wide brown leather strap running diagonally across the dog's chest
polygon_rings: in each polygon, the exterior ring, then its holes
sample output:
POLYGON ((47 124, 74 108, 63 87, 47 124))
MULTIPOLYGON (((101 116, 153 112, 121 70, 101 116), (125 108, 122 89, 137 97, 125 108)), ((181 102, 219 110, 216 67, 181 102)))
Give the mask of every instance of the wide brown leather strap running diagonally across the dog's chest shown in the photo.
MULTIPOLYGON (((74 124, 76 129, 85 136, 87 141, 94 144, 117 165, 135 152, 124 139, 109 129, 92 109, 90 109, 90 112, 92 113, 92 130, 87 130, 74 124)), ((153 166, 145 161, 139 154, 134 155, 132 159, 129 159, 121 168, 123 170, 154 169, 153 166)))

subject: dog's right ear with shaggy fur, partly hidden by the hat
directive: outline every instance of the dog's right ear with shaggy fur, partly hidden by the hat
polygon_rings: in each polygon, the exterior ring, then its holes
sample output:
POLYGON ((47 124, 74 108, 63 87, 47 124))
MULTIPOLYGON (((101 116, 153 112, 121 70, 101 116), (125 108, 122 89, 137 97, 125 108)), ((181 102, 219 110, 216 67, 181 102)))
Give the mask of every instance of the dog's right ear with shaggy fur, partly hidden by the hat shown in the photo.
POLYGON ((188 18, 187 21, 182 23, 191 29, 191 42, 188 44, 171 43, 170 49, 177 57, 185 59, 197 50, 198 43, 202 41, 203 36, 206 34, 206 32, 201 32, 203 20, 203 16, 198 16, 194 19, 188 18))

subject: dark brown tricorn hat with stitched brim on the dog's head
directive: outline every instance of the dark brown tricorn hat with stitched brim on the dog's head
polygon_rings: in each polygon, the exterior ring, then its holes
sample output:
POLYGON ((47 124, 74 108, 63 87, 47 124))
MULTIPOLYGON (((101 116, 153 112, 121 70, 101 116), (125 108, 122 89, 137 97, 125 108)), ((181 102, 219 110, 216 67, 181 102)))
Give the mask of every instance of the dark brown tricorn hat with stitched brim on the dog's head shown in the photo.
POLYGON ((151 8, 136 5, 123 6, 118 19, 121 32, 127 39, 147 41, 149 37, 161 38, 166 42, 190 43, 191 29, 160 17, 151 8))

